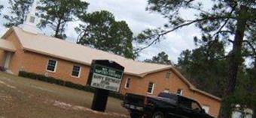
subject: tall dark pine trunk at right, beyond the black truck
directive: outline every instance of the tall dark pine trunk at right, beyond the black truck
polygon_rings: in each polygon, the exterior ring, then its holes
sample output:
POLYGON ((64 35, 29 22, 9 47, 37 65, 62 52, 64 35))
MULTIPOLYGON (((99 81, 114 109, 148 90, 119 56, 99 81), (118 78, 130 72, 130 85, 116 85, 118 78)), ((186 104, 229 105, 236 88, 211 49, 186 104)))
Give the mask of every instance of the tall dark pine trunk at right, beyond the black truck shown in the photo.
POLYGON ((231 106, 227 102, 227 97, 232 95, 236 87, 236 78, 239 71, 239 66, 242 64, 242 42, 245 35, 245 26, 247 22, 248 7, 241 6, 239 16, 236 22, 235 38, 233 40, 233 49, 230 52, 227 87, 224 90, 224 99, 221 106, 221 118, 230 117, 231 106))

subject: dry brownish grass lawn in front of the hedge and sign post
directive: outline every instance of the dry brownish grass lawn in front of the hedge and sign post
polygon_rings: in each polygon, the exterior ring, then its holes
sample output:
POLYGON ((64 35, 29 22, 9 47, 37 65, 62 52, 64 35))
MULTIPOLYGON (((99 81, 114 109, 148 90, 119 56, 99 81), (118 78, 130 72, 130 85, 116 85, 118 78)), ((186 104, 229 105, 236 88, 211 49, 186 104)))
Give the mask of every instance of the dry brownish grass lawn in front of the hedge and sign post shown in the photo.
POLYGON ((0 72, 0 118, 127 117, 120 99, 108 98, 105 113, 91 111, 93 93, 0 72))

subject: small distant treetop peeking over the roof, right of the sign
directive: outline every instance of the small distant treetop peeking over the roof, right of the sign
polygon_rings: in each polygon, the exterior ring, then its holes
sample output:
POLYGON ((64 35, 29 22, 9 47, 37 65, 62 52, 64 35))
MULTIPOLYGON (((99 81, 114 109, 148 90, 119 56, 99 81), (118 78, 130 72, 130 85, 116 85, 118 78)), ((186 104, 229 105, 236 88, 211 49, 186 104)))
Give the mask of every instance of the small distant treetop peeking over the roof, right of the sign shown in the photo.
POLYGON ((169 56, 166 54, 166 52, 160 52, 157 56, 154 56, 152 59, 146 59, 145 62, 148 63, 160 63, 160 64, 166 64, 166 65, 172 65, 172 61, 168 59, 169 56))

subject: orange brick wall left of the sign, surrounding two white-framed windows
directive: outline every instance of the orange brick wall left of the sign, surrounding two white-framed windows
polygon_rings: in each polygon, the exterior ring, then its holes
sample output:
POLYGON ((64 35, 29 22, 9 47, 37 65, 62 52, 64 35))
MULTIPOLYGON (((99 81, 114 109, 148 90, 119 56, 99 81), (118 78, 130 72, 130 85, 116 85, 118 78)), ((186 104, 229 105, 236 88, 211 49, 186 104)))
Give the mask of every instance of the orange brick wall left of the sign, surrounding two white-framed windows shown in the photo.
POLYGON ((35 72, 41 75, 48 75, 53 78, 60 78, 64 81, 72 81, 75 84, 82 85, 87 83, 87 77, 90 72, 89 66, 72 63, 70 61, 58 58, 50 58, 48 56, 39 55, 33 52, 25 52, 21 69, 25 70, 26 72, 35 72), (56 72, 47 71, 47 61, 49 59, 57 60, 56 72), (81 66, 81 75, 79 78, 71 75, 74 65, 81 66))

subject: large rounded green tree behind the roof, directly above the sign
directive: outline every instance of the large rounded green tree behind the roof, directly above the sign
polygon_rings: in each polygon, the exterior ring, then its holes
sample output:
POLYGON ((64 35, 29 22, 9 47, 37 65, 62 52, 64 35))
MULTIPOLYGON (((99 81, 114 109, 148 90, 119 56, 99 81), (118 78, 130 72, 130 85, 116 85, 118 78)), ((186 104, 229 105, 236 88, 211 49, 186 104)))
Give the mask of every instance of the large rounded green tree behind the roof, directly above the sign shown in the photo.
POLYGON ((136 58, 133 53, 133 32, 125 21, 117 22, 112 13, 96 11, 80 17, 84 24, 75 28, 77 43, 106 52, 136 58))

